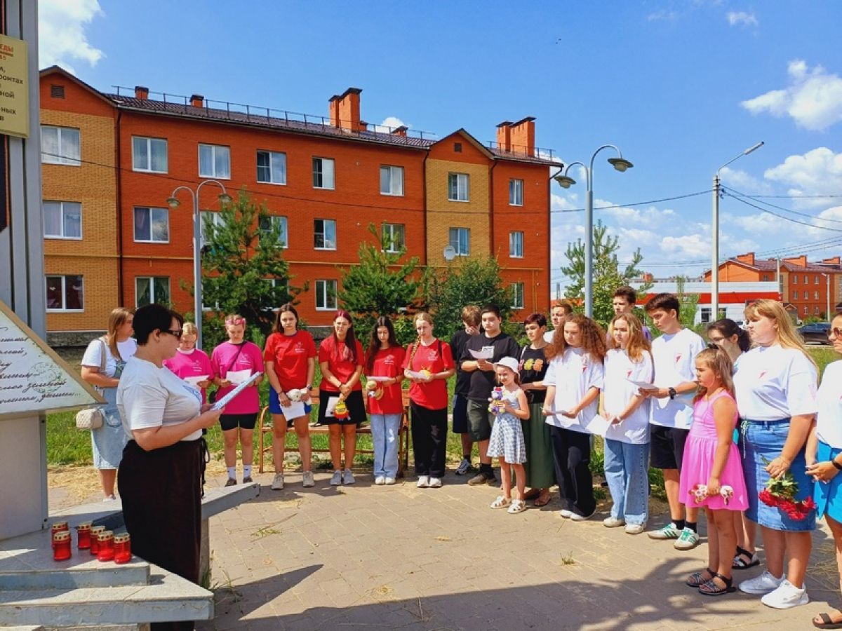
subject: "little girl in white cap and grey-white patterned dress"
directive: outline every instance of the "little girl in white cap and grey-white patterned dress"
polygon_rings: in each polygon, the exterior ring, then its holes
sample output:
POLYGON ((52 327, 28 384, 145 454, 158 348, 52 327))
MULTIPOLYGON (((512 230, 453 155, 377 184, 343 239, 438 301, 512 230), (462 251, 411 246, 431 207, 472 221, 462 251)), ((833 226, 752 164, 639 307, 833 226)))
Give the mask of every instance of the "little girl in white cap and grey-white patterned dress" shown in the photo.
POLYGON ((500 460, 503 495, 491 502, 491 507, 509 506, 509 512, 514 514, 526 510, 524 500, 526 472, 523 465, 526 462, 526 442, 520 422, 529 418, 529 404, 526 393, 520 388, 517 359, 502 358, 494 364, 494 373, 497 374, 498 383, 503 391, 503 399, 498 406, 499 411, 494 411, 494 423, 491 438, 488 441, 488 455, 497 456, 500 460), (514 469, 514 481, 518 490, 517 498, 514 500, 512 500, 512 469, 514 469))

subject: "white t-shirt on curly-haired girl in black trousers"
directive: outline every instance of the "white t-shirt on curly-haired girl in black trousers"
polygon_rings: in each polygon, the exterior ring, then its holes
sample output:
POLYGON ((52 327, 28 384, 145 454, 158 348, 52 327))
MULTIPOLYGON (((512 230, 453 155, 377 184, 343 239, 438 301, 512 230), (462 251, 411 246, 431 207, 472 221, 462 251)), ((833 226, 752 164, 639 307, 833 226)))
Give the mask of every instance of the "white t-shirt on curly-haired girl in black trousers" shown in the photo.
MULTIPOLYGON (((605 369, 602 362, 595 360, 581 348, 568 347, 562 355, 550 360, 544 375, 544 385, 556 386, 556 398, 552 401, 555 411, 568 411, 578 406, 590 388, 602 390, 605 369)), ((590 422, 597 414, 599 397, 578 413, 576 418, 561 414, 547 416, 546 422, 555 427, 564 427, 574 432, 590 433, 584 423, 590 422)))

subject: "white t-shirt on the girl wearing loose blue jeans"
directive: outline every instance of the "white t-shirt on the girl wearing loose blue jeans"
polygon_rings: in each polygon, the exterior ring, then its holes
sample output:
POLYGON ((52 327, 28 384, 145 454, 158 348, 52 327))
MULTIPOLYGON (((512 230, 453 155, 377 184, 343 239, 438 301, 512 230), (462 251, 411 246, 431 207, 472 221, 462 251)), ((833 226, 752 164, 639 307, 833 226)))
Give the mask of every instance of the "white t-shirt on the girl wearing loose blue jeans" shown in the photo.
MULTIPOLYGON (((605 355, 605 388, 602 390, 602 405, 605 408, 605 414, 608 416, 620 414, 626 409, 632 397, 637 394, 637 386, 629 379, 651 383, 653 373, 652 355, 648 351, 643 351, 643 357, 639 362, 632 362, 626 351, 612 348, 605 355)), ((622 443, 637 445, 648 443, 649 405, 650 400, 644 399, 637 410, 626 416, 622 422, 609 427, 605 437, 622 443)))

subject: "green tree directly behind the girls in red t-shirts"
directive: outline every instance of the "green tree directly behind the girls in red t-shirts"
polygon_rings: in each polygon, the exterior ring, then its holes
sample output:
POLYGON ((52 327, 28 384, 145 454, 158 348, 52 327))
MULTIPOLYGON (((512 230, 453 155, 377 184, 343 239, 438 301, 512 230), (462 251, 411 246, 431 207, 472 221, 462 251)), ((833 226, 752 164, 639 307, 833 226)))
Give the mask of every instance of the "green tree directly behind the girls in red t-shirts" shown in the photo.
POLYGON ((381 315, 396 318, 417 306, 418 257, 401 262, 406 248, 381 235, 374 224, 369 231, 375 241, 360 243, 360 263, 339 268, 342 289, 337 297, 354 319, 354 329, 365 343, 371 327, 381 315), (396 247, 399 245, 400 247, 396 247))

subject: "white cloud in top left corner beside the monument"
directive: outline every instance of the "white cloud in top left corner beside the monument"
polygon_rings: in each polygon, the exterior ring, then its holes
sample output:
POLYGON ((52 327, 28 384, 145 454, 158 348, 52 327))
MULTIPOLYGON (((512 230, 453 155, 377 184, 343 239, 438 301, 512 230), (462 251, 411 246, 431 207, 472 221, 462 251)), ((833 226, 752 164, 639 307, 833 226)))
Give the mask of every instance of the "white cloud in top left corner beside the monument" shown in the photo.
POLYGON ((74 72, 71 61, 96 66, 104 52, 88 42, 85 27, 104 16, 99 0, 41 0, 38 8, 39 64, 74 72))

